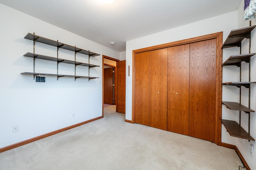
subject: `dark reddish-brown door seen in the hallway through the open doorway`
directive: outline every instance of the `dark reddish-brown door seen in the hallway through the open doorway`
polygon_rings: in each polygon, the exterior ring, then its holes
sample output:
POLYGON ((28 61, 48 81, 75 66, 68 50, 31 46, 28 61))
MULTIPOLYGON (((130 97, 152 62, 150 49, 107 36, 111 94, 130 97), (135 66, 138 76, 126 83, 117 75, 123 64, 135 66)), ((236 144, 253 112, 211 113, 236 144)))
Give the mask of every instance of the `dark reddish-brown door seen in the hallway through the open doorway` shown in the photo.
POLYGON ((113 104, 113 68, 104 68, 104 103, 113 104))

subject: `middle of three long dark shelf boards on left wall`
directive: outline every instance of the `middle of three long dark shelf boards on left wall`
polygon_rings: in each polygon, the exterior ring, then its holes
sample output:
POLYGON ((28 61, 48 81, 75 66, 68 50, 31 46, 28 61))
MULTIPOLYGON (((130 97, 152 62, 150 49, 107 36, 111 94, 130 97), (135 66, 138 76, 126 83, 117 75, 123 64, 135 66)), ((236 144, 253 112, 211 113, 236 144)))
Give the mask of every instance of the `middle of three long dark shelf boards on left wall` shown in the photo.
POLYGON ((81 63, 81 62, 76 62, 76 61, 71 61, 71 60, 66 60, 66 59, 60 59, 60 58, 56 58, 56 57, 49 57, 49 56, 46 56, 46 55, 39 55, 39 54, 34 54, 34 53, 26 53, 23 56, 32 57, 32 58, 36 58, 36 59, 43 59, 43 60, 49 60, 49 61, 68 63, 68 64, 77 64, 77 65, 80 65, 80 66, 99 67, 99 66, 94 65, 94 64, 81 63))

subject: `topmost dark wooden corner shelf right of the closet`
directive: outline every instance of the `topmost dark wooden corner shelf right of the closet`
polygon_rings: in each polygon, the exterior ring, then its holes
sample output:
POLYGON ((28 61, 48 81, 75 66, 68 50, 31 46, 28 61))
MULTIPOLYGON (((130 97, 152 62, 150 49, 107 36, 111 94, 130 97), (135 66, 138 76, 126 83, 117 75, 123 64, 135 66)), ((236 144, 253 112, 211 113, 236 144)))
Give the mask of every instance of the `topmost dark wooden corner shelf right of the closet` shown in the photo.
POLYGON ((250 32, 256 27, 256 25, 250 26, 250 27, 244 27, 239 29, 232 30, 226 41, 222 45, 222 49, 224 48, 230 48, 230 47, 240 47, 241 42, 244 40, 244 38, 249 38, 250 32))

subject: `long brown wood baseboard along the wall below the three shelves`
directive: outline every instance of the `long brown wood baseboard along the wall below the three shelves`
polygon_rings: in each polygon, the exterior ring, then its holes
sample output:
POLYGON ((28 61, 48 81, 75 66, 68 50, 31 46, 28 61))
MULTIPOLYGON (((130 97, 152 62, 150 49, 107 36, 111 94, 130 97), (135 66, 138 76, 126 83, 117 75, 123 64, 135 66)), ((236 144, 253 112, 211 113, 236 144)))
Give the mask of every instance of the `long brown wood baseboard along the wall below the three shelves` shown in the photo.
POLYGON ((103 118, 103 116, 96 117, 96 118, 94 118, 94 119, 90 119, 90 120, 87 120, 87 121, 83 121, 83 122, 81 122, 81 123, 77 123, 77 124, 75 124, 75 125, 71 125, 71 126, 68 126, 68 127, 64 127, 64 128, 62 128, 62 129, 59 129, 59 130, 56 130, 56 131, 52 131, 52 132, 50 132, 50 133, 46 133, 46 134, 44 134, 44 135, 40 135, 40 136, 38 136, 38 137, 34 137, 34 138, 31 138, 31 139, 28 139, 28 140, 26 140, 26 141, 22 141, 22 142, 19 142, 19 143, 15 143, 15 144, 13 144, 13 145, 9 145, 9 146, 7 146, 7 147, 0 148, 0 153, 1 153, 1 152, 4 152, 4 151, 6 151, 6 150, 14 149, 14 148, 16 148, 16 147, 20 147, 20 146, 22 146, 22 145, 26 145, 26 144, 28 144, 28 143, 37 141, 37 140, 39 140, 39 139, 43 139, 43 138, 45 138, 45 137, 49 137, 49 136, 51 136, 51 135, 55 135, 55 134, 57 134, 57 133, 66 131, 66 130, 68 130, 68 129, 72 129, 72 128, 74 128, 74 127, 78 127, 78 126, 80 126, 80 125, 84 125, 84 124, 86 124, 86 123, 89 123, 89 122, 92 122, 92 121, 95 121, 95 120, 98 120, 98 119, 101 119, 101 118, 103 118))

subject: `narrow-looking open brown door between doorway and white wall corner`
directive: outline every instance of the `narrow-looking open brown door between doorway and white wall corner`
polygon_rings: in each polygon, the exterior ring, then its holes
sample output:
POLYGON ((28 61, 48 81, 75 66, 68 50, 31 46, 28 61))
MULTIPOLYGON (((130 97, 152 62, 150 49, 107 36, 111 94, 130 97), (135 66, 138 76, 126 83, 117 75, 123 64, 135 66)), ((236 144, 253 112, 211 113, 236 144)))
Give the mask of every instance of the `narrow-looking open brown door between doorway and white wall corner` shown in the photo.
POLYGON ((116 63, 116 111, 118 113, 125 113, 125 79, 126 79, 126 61, 118 61, 116 63))

